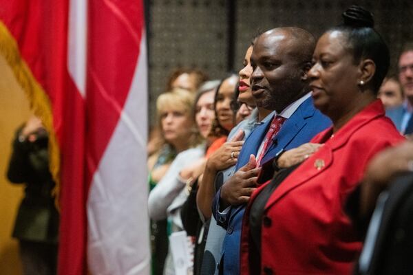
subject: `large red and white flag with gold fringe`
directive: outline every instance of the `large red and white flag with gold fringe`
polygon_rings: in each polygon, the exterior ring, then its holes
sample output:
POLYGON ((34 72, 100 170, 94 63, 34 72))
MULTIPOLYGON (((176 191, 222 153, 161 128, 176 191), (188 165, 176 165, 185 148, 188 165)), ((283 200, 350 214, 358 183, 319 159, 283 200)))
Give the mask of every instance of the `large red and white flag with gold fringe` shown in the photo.
POLYGON ((142 0, 0 0, 0 54, 50 130, 59 274, 149 274, 142 0))

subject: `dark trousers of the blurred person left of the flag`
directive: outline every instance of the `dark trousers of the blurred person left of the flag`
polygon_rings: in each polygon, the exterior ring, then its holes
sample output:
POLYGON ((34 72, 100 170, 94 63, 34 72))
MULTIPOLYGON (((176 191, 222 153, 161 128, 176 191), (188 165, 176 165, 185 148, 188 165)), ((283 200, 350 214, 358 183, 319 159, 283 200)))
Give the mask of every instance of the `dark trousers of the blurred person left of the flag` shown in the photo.
POLYGON ((34 241, 19 241, 24 275, 55 275, 57 245, 34 241))

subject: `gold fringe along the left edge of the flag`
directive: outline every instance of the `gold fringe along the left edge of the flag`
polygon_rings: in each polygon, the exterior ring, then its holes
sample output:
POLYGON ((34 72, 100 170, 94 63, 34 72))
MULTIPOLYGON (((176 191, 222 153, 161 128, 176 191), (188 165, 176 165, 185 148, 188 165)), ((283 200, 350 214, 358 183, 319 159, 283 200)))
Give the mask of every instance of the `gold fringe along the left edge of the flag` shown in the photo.
POLYGON ((50 173, 56 183, 53 190, 53 195, 56 197, 56 207, 59 207, 59 194, 60 194, 60 151, 59 145, 56 139, 56 133, 53 128, 53 115, 52 105, 50 100, 34 78, 30 68, 21 58, 19 48, 14 40, 12 34, 10 34, 6 25, 0 21, 0 54, 4 56, 8 65, 12 69, 17 83, 21 86, 25 94, 28 96, 30 102, 30 109, 37 115, 43 122, 47 132, 49 133, 49 159, 50 159, 50 173))

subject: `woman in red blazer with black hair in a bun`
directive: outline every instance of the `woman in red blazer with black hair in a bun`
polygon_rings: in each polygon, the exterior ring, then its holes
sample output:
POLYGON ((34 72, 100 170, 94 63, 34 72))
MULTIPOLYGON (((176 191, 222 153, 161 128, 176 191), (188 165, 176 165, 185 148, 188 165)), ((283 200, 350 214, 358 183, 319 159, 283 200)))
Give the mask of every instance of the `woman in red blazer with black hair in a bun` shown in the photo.
POLYGON ((376 99, 390 57, 372 14, 352 6, 343 18, 317 42, 308 72, 315 107, 333 126, 312 140, 318 151, 251 197, 242 274, 350 274, 361 250, 343 204, 368 161, 403 137, 376 99))

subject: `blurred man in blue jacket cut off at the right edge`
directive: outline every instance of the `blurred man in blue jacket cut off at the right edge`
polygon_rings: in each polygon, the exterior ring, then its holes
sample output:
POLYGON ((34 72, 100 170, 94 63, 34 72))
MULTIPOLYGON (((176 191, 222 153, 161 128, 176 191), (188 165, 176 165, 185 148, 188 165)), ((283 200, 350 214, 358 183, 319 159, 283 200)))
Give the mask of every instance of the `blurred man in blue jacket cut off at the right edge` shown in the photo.
POLYGON ((394 122, 403 135, 413 133, 413 42, 403 45, 399 56, 399 81, 404 93, 400 107, 389 109, 386 115, 394 122))

